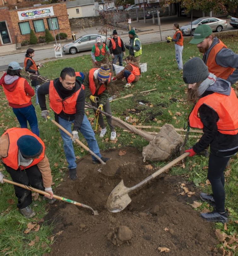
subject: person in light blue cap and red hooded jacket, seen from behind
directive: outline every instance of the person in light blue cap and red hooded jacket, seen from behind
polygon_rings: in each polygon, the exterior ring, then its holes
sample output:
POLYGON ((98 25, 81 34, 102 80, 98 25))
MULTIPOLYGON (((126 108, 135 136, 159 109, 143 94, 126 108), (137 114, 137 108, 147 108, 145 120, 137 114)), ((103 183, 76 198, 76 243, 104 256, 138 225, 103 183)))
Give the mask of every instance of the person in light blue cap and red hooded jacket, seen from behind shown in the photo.
POLYGON ((12 61, 8 65, 8 70, 2 76, 0 85, 16 115, 21 128, 27 128, 27 121, 31 131, 39 136, 37 116, 35 108, 32 105, 31 98, 34 96, 34 90, 30 87, 25 78, 21 77, 22 67, 19 63, 12 61))

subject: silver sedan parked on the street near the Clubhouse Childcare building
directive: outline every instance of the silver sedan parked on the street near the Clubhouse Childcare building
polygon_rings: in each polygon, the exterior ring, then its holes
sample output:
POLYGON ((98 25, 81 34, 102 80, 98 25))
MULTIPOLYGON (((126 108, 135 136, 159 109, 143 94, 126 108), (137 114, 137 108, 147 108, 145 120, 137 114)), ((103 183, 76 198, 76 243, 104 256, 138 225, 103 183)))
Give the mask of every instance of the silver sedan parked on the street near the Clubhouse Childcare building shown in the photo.
POLYGON ((65 44, 63 46, 63 52, 76 54, 77 52, 91 50, 96 43, 96 38, 101 37, 103 42, 106 41, 106 36, 101 34, 87 34, 79 37, 72 43, 65 44))

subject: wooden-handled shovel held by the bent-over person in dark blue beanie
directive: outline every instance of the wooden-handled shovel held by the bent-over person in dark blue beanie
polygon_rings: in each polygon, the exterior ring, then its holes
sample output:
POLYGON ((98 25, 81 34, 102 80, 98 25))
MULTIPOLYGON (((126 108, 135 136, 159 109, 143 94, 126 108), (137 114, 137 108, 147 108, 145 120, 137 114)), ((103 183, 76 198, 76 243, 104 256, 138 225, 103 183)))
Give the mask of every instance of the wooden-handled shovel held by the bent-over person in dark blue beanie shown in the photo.
MULTIPOLYGON (((47 193, 45 191, 39 190, 37 188, 30 187, 30 186, 27 186, 27 185, 24 185, 24 184, 17 183, 17 182, 14 182, 12 180, 7 180, 7 179, 3 178, 3 181, 7 182, 9 184, 15 185, 15 186, 19 186, 19 187, 25 188, 25 189, 30 190, 30 191, 37 192, 37 193, 42 194, 42 195, 49 195, 49 193, 47 193)), ((78 202, 73 201, 71 199, 60 197, 60 196, 56 196, 56 195, 53 195, 53 198, 61 200, 61 201, 64 201, 64 202, 67 202, 67 203, 70 203, 70 204, 76 204, 76 205, 78 205, 80 207, 89 209, 92 212, 93 215, 98 215, 97 210, 93 210, 93 208, 91 208, 90 206, 88 206, 86 204, 81 204, 81 203, 78 203, 78 202)))

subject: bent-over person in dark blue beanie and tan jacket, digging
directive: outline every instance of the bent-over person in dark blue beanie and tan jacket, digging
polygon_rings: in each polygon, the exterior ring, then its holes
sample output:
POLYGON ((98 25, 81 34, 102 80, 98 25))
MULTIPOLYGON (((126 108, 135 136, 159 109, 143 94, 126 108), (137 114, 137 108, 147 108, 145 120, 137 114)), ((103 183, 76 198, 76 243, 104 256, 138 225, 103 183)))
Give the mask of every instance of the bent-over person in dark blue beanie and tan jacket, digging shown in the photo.
MULTIPOLYGON (((44 197, 50 204, 56 201, 51 188, 52 176, 45 145, 37 135, 26 128, 8 129, 0 137, 0 158, 13 181, 48 192, 49 195, 44 197)), ((0 183, 3 183, 3 177, 0 172, 0 183)), ((14 186, 14 189, 20 213, 26 218, 35 216, 30 207, 32 192, 18 186, 14 186)))

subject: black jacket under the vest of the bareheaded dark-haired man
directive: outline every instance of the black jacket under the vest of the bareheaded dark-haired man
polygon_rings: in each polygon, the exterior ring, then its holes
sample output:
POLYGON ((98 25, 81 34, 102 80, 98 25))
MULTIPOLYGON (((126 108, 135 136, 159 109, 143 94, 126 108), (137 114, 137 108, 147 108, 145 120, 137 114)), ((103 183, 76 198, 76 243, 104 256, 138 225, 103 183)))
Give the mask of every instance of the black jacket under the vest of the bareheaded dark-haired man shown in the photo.
MULTIPOLYGON (((81 83, 77 80, 77 82, 75 83, 75 87, 72 90, 67 90, 62 86, 59 78, 56 78, 54 80, 54 87, 57 93, 60 95, 60 97, 62 99, 65 99, 70 97, 76 90, 78 90, 81 87, 81 83)), ((38 101, 42 111, 47 110, 45 101, 46 94, 49 94, 49 82, 42 84, 38 89, 38 101)), ((58 116, 67 121, 74 120, 73 131, 79 131, 84 119, 84 102, 84 90, 81 89, 76 101, 76 114, 66 114, 62 110, 59 115, 55 113, 56 122, 58 122, 58 116)))

